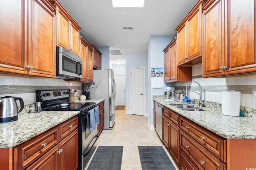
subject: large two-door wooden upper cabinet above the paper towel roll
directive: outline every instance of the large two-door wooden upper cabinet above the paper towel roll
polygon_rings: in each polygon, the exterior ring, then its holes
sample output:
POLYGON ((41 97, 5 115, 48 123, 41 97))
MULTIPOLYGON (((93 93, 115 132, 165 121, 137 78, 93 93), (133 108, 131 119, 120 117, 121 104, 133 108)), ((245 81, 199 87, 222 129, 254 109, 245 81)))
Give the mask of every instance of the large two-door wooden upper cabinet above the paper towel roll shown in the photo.
POLYGON ((255 0, 210 0, 204 6, 204 77, 256 71, 255 20, 255 0))

